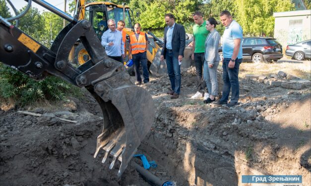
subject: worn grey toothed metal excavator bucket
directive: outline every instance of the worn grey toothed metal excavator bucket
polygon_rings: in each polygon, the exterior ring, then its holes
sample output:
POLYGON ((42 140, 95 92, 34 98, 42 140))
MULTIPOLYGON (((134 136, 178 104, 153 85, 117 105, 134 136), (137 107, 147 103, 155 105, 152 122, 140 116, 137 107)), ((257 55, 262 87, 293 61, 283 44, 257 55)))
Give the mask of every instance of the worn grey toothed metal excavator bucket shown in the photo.
MULTIPOLYGON (((121 77, 129 79, 125 70, 121 77)), ((104 115, 104 127, 97 137, 94 158, 100 151, 104 151, 102 163, 105 163, 108 155, 111 154, 113 161, 109 168, 112 169, 115 162, 119 160, 121 166, 118 177, 121 177, 141 140, 153 124, 155 108, 151 95, 143 88, 118 84, 114 78, 105 79, 98 82, 94 88, 89 87, 88 91, 97 99, 104 115), (103 93, 102 90, 108 90, 105 85, 109 85, 110 91, 103 93)))

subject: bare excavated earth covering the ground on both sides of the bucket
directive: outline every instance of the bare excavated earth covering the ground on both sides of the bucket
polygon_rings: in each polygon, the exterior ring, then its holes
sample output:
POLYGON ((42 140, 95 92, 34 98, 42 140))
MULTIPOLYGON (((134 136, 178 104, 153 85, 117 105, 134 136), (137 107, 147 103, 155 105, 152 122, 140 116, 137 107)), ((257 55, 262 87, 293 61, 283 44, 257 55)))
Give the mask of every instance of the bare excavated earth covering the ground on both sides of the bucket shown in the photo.
MULTIPOLYGON (((228 108, 190 99, 195 80, 194 68, 184 69, 175 100, 166 94, 168 77, 141 86, 156 105, 155 122, 137 152, 156 161, 151 173, 177 186, 243 185, 242 175, 260 174, 303 175, 303 185, 311 185, 310 87, 290 90, 240 79, 241 104, 228 108)), ((0 185, 147 186, 131 165, 119 179, 119 162, 109 170, 111 158, 102 164, 103 153, 93 157, 101 116, 87 93, 52 110, 0 110, 0 185), (51 114, 78 123, 51 119, 51 114)))

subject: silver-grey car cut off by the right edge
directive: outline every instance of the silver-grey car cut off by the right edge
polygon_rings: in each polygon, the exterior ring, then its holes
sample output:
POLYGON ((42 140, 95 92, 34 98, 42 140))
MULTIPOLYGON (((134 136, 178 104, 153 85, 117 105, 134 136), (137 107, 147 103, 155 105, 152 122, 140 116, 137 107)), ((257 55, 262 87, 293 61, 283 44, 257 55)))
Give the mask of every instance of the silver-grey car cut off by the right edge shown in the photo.
POLYGON ((295 45, 288 45, 285 54, 294 57, 296 60, 311 59, 311 40, 299 42, 295 45))

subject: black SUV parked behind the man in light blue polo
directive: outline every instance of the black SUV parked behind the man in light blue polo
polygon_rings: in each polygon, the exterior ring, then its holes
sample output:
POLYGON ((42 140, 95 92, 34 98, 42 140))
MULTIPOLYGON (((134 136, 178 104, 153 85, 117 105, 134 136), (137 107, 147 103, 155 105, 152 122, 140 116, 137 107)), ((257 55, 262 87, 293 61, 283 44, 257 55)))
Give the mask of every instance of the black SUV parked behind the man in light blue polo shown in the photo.
MULTIPOLYGON (((245 37, 242 40, 243 60, 259 63, 263 61, 279 60, 283 57, 282 46, 274 38, 245 37)), ((218 48, 222 58, 222 47, 218 48)))

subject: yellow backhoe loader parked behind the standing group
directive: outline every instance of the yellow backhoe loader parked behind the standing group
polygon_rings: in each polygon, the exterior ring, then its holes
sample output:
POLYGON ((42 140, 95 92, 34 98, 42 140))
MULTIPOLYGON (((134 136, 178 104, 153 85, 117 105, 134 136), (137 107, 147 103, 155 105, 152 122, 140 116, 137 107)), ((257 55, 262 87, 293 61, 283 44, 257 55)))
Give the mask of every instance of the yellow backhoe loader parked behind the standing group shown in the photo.
MULTIPOLYGON (((116 23, 119 20, 125 22, 125 32, 127 35, 133 32, 135 24, 133 16, 131 16, 130 8, 124 4, 118 5, 112 2, 97 1, 85 4, 85 0, 76 0, 75 15, 78 20, 87 19, 90 21, 96 35, 101 40, 102 34, 108 29, 107 21, 114 19, 116 23)), ((160 48, 163 42, 148 32, 149 48, 147 50, 148 67, 150 72, 155 76, 166 75, 166 64, 160 61, 160 48), (154 63, 154 64, 152 64, 154 63)), ((127 49, 128 43, 126 42, 127 49)), ((128 52, 128 51, 127 51, 128 52)), ((82 65, 90 59, 85 47, 81 42, 77 41, 71 50, 69 60, 82 65)), ((124 64, 126 63, 126 59, 124 64)), ((133 66, 126 67, 129 74, 133 74, 133 66)))

